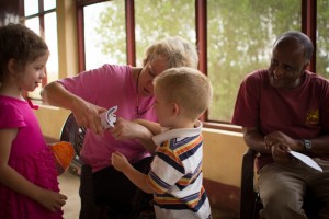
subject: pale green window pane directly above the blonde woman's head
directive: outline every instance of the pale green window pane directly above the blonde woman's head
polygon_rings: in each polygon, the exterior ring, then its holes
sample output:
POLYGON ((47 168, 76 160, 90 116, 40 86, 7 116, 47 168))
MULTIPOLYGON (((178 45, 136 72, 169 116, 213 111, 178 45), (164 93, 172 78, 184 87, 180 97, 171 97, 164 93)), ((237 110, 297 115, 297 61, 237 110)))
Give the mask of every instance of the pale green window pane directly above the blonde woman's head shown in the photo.
POLYGON ((167 36, 179 35, 195 44, 194 11, 191 0, 135 1, 137 66, 143 65, 146 48, 167 36))

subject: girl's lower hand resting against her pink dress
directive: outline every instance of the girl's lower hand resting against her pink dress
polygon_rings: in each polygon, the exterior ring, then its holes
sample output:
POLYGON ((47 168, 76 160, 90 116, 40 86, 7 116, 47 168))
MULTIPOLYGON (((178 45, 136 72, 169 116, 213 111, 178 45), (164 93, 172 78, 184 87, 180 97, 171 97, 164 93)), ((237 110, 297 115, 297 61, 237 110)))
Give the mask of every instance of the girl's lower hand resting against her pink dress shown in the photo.
POLYGON ((54 191, 43 189, 38 195, 37 201, 46 209, 55 212, 60 210, 66 204, 67 196, 54 191))

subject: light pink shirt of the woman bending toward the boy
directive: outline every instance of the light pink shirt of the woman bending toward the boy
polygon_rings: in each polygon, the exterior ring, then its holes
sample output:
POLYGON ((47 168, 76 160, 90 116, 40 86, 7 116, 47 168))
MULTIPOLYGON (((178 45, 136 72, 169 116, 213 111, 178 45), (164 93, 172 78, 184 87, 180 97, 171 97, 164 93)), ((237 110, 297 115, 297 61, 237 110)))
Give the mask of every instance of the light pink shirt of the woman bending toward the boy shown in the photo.
MULTIPOLYGON (((104 65, 59 82, 69 92, 92 104, 105 108, 117 105, 117 117, 129 120, 137 118, 137 88, 129 66, 104 65)), ((140 112, 149 108, 140 118, 157 122, 152 104, 154 97, 139 96, 140 112)), ((138 140, 115 140, 109 131, 104 131, 103 137, 100 137, 87 130, 80 155, 93 171, 110 166, 111 154, 114 151, 122 152, 133 163, 150 155, 138 140)))

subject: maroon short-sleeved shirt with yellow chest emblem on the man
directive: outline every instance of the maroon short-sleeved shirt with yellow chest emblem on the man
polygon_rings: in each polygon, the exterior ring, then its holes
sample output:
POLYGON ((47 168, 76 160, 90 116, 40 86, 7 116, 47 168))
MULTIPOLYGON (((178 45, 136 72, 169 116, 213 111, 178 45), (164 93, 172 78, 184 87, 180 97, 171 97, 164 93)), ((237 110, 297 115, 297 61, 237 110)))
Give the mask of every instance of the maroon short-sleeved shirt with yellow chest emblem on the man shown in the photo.
MULTIPOLYGON (((263 135, 282 131, 296 139, 328 135, 329 82, 306 71, 298 88, 279 90, 270 84, 268 70, 254 71, 241 83, 232 124, 259 127, 263 135)), ((272 162, 269 155, 259 161, 260 166, 272 162)))

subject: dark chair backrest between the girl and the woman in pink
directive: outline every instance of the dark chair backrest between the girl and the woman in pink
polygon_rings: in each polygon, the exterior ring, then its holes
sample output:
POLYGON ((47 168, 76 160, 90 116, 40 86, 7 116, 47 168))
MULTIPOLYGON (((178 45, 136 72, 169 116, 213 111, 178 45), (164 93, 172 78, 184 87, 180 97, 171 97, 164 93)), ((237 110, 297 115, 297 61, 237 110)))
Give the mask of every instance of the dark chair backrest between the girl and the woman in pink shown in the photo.
POLYGON ((83 146, 84 134, 86 134, 86 128, 78 126, 76 118, 71 113, 67 117, 61 128, 60 141, 68 141, 72 143, 75 149, 75 157, 72 162, 79 168, 81 168, 81 165, 83 164, 82 161, 80 160, 80 151, 83 146))

